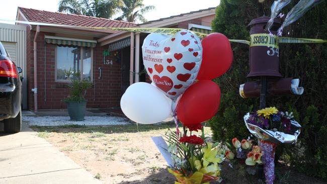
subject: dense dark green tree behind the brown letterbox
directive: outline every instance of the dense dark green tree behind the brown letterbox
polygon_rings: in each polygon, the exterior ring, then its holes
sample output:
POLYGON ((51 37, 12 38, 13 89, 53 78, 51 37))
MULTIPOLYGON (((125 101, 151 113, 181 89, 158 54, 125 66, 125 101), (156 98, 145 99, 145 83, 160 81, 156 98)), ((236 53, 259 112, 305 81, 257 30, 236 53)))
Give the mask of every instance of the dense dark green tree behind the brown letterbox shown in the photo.
MULTIPOLYGON (((284 8, 287 14, 298 1, 292 1, 284 8)), ((249 40, 247 25, 252 19, 270 16, 272 0, 259 3, 258 0, 221 0, 212 22, 214 32, 220 32, 229 39, 249 40)), ((327 4, 325 2, 311 9, 298 21, 286 27, 283 36, 293 38, 327 38, 327 4)), ((231 68, 215 81, 221 87, 220 109, 209 124, 214 139, 230 141, 233 137, 247 138, 249 132, 244 126, 243 115, 258 110, 259 98, 242 99, 238 86, 253 79, 249 73, 249 47, 232 43, 234 60, 231 68)), ((280 72, 284 77, 299 77, 305 92, 302 96, 267 97, 267 106, 281 111, 292 111, 301 124, 302 132, 295 145, 278 147, 277 154, 284 151, 291 166, 307 174, 327 178, 327 47, 326 44, 280 44, 280 72), (307 169, 310 168, 310 169, 307 169)))

